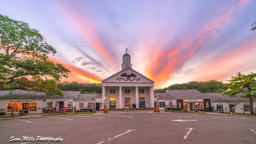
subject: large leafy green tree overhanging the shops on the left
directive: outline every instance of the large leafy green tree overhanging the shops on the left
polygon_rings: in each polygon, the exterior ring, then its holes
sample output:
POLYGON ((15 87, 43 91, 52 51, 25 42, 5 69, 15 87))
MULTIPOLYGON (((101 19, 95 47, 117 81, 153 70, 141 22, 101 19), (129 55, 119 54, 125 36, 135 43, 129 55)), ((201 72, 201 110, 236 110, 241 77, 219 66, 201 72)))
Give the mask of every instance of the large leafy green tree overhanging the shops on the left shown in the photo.
POLYGON ((47 95, 63 95, 56 83, 70 71, 48 59, 47 55, 54 55, 56 50, 38 30, 0 14, 0 51, 1 90, 31 88, 47 95))

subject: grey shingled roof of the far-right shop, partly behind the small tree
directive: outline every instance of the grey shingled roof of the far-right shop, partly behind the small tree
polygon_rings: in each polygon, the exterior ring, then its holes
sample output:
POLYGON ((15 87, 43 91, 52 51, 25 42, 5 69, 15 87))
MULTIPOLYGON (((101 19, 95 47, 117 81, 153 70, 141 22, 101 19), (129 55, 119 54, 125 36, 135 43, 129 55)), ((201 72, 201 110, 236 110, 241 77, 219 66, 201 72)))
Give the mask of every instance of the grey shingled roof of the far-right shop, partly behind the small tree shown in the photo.
MULTIPOLYGON (((242 93, 236 95, 236 97, 229 97, 227 95, 221 95, 222 92, 214 93, 203 93, 211 98, 211 102, 249 102, 249 98, 241 98, 242 93)), ((252 98, 253 101, 256 101, 256 98, 252 98)))

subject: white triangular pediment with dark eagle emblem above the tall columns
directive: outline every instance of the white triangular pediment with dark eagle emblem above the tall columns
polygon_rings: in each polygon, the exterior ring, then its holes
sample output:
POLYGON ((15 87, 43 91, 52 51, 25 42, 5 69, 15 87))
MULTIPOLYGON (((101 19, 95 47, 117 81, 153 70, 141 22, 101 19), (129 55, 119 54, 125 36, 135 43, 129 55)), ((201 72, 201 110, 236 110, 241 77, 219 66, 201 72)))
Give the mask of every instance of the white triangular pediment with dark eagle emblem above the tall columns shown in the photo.
POLYGON ((101 82, 148 82, 154 83, 153 80, 147 78, 146 76, 140 74, 134 69, 127 67, 105 79, 101 82))

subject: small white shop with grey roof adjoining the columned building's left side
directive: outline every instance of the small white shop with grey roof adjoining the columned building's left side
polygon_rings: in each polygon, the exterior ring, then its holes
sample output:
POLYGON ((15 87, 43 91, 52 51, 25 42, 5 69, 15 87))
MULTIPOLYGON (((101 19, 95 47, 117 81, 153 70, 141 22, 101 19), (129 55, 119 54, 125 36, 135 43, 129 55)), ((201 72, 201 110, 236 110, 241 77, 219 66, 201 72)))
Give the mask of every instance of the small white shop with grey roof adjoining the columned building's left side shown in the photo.
POLYGON ((96 110, 103 109, 102 102, 101 102, 101 94, 85 94, 81 93, 78 95, 76 99, 76 106, 75 109, 90 109, 92 103, 92 107, 96 110))

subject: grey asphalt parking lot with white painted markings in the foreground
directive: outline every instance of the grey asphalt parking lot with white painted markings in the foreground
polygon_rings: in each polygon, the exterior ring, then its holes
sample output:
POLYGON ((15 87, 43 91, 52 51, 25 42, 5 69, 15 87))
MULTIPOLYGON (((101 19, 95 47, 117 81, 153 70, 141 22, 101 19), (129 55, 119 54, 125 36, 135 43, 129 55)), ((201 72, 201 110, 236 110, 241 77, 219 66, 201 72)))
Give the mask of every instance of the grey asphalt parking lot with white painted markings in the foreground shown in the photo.
MULTIPOLYGON (((36 136, 61 137, 61 143, 256 143, 256 117, 192 113, 66 115, 0 120, 0 143, 10 137, 47 143, 36 136)), ((50 141, 60 143, 60 141, 50 141)))

